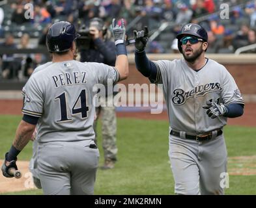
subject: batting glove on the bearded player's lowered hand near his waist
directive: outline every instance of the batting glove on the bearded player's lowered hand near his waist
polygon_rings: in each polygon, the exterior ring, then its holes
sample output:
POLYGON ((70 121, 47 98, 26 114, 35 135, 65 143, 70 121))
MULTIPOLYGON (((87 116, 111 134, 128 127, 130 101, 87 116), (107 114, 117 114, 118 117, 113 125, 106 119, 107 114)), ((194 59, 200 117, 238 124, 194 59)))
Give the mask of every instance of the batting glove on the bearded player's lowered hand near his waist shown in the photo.
POLYGON ((210 118, 217 118, 218 116, 225 116, 225 114, 227 114, 227 107, 222 103, 218 105, 217 103, 206 101, 206 105, 203 105, 203 109, 207 109, 206 114, 210 118))

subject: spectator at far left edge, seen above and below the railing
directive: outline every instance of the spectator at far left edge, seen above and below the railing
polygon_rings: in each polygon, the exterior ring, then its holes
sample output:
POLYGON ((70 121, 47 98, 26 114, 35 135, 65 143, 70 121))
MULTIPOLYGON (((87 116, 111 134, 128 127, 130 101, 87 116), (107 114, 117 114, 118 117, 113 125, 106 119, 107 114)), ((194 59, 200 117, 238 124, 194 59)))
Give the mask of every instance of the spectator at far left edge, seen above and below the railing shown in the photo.
MULTIPOLYGON (((4 49, 17 49, 14 44, 14 36, 10 33, 5 35, 5 42, 0 44, 4 49)), ((2 76, 6 79, 18 77, 19 64, 15 62, 14 55, 3 54, 2 56, 2 76)))

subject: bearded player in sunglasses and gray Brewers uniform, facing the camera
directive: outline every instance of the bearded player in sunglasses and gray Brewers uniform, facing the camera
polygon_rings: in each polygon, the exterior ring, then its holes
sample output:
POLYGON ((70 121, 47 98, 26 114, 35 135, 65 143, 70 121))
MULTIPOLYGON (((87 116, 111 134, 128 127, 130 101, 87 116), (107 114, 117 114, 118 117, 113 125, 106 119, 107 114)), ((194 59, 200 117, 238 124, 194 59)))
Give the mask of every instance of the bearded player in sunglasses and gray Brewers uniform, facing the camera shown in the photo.
POLYGON ((184 25, 177 35, 183 59, 150 61, 149 31, 134 31, 135 64, 152 83, 162 84, 169 115, 169 159, 176 194, 223 194, 227 172, 223 126, 241 116, 244 101, 226 68, 207 59, 207 32, 184 25))

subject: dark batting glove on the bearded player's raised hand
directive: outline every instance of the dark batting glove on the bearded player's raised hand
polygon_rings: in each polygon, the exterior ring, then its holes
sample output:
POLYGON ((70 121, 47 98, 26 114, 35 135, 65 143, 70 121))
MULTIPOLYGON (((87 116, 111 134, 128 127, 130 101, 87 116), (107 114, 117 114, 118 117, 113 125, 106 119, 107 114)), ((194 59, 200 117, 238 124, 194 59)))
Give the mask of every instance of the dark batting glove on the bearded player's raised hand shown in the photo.
POLYGON ((135 50, 138 52, 144 51, 149 40, 149 29, 144 27, 144 31, 134 31, 135 50))

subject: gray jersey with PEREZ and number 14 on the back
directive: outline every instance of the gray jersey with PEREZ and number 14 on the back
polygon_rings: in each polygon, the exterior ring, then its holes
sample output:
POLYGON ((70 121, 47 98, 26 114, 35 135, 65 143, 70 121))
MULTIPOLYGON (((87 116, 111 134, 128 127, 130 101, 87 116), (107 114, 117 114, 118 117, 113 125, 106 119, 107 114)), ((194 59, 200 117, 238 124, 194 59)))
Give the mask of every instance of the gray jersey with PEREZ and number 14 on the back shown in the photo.
POLYGON ((92 87, 117 83, 119 73, 112 66, 76 60, 48 63, 24 86, 23 114, 39 117, 38 142, 94 139, 92 87))

